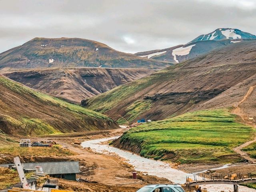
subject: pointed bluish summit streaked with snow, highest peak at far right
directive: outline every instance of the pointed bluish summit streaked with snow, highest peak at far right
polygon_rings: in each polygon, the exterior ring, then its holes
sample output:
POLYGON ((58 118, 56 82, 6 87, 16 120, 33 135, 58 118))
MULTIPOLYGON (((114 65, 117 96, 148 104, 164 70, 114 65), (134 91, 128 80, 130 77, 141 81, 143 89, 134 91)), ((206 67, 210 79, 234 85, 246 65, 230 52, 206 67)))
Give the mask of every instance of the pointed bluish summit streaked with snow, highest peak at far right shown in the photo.
POLYGON ((203 34, 192 40, 191 42, 196 41, 205 41, 205 40, 223 40, 223 39, 256 39, 256 36, 247 32, 243 32, 239 29, 233 28, 218 28, 213 32, 208 34, 203 34))

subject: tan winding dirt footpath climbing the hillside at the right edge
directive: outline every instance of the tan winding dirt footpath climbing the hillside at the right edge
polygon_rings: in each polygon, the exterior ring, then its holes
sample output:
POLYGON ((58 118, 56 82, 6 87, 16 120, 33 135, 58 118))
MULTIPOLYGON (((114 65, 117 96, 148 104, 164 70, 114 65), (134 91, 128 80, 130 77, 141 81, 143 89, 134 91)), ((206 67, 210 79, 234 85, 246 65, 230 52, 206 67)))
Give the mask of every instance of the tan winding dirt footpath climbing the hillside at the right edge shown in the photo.
MULTIPOLYGON (((256 87, 256 85, 251 86, 249 88, 249 90, 246 92, 244 98, 235 105, 236 108, 233 110, 233 113, 238 114, 242 117, 242 114, 241 114, 242 112, 241 112, 241 109, 239 106, 252 94, 255 87, 256 87)), ((255 125, 254 125, 254 128, 256 128, 255 125)), ((234 148, 234 151, 236 153, 240 154, 244 159, 248 160, 249 162, 256 163, 256 159, 251 158, 246 152, 242 151, 242 148, 247 147, 254 142, 256 142, 256 138, 254 138, 254 140, 245 142, 244 144, 234 148)))

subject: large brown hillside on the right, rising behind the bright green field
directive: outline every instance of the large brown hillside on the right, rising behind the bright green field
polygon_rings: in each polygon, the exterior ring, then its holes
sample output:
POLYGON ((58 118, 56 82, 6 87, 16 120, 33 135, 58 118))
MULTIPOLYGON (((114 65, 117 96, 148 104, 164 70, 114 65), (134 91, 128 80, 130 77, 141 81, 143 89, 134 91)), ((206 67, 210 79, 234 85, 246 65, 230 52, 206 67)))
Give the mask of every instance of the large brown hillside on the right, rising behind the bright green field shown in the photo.
MULTIPOLYGON (((120 122, 138 118, 160 120, 202 106, 233 106, 254 85, 255 75, 256 41, 250 40, 166 68, 84 100, 82 104, 120 122), (224 94, 228 93, 230 96, 226 97, 224 94)), ((255 101, 255 94, 250 97, 255 101)), ((243 106, 243 110, 255 111, 253 101, 247 106, 244 102, 243 106)))

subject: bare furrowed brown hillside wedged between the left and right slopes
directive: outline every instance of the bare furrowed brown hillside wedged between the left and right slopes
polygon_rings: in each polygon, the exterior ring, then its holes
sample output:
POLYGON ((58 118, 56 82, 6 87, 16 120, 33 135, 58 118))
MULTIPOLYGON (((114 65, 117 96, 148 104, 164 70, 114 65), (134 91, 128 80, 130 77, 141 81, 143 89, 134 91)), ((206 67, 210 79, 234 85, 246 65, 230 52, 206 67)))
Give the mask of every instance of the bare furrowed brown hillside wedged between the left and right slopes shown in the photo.
POLYGON ((4 76, 30 88, 80 103, 84 98, 106 92, 153 72, 148 69, 128 68, 40 68, 10 70, 4 72, 4 76))

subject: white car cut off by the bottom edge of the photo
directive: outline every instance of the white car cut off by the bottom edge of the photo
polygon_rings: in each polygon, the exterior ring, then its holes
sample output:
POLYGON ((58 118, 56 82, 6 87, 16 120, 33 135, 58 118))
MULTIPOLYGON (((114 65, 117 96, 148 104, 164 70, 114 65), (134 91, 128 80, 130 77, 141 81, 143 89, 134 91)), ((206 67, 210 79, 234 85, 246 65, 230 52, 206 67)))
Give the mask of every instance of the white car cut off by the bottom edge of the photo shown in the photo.
POLYGON ((137 192, 185 192, 180 185, 157 184, 147 185, 137 192))

